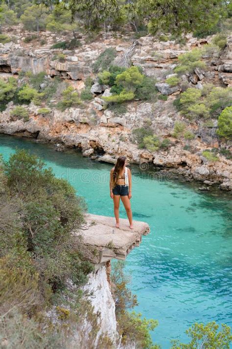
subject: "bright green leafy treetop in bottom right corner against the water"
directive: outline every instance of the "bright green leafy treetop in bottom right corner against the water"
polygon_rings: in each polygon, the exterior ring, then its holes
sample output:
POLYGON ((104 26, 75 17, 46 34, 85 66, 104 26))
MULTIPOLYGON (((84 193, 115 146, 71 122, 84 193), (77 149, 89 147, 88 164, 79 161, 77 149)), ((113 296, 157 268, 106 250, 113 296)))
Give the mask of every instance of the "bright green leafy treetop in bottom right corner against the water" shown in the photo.
POLYGON ((179 340, 172 340, 173 344, 171 349, 217 349, 228 348, 232 341, 231 328, 225 323, 222 323, 220 331, 219 325, 215 321, 207 324, 195 322, 188 330, 186 334, 191 338, 189 344, 180 343, 179 340))

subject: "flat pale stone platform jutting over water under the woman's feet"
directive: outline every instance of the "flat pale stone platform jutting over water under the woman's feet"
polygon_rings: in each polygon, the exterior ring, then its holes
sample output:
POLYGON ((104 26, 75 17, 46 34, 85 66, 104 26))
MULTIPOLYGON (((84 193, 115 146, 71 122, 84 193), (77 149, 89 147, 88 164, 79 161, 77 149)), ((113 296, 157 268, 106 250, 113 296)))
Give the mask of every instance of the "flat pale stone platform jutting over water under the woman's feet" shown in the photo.
POLYGON ((104 215, 86 215, 86 224, 76 235, 81 235, 84 246, 92 250, 89 260, 100 265, 112 258, 125 260, 130 251, 139 246, 142 235, 150 232, 149 225, 141 221, 133 221, 134 229, 130 229, 128 219, 120 218, 120 228, 115 227, 115 217, 104 215))

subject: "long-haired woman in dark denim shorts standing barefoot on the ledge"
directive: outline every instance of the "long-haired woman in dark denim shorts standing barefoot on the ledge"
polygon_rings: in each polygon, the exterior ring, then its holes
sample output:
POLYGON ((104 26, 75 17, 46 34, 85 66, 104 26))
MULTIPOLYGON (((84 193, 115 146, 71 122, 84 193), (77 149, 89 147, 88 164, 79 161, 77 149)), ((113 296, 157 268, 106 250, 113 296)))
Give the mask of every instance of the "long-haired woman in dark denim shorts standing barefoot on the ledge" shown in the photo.
POLYGON ((121 198, 129 219, 130 228, 133 229, 130 203, 130 199, 132 198, 131 189, 131 170, 126 167, 126 157, 119 156, 115 167, 113 167, 110 172, 110 197, 114 199, 116 228, 119 228, 119 203, 121 198))

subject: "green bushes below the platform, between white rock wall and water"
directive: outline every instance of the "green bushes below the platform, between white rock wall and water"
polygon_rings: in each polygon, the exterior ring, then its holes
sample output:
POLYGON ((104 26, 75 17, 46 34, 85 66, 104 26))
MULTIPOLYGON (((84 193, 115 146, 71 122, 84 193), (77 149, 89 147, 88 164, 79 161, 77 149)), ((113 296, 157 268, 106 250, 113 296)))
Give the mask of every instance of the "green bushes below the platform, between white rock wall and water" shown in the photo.
POLYGON ((138 348, 158 349, 160 347, 153 345, 149 333, 149 330, 153 331, 157 327, 158 321, 141 319, 141 314, 128 311, 138 305, 138 301, 137 296, 127 287, 130 276, 124 273, 123 267, 124 262, 117 261, 111 275, 111 280, 115 284, 113 297, 116 300, 117 329, 122 335, 122 343, 136 341, 138 348))

